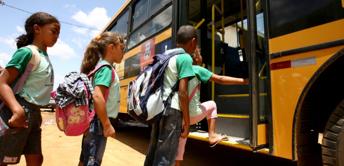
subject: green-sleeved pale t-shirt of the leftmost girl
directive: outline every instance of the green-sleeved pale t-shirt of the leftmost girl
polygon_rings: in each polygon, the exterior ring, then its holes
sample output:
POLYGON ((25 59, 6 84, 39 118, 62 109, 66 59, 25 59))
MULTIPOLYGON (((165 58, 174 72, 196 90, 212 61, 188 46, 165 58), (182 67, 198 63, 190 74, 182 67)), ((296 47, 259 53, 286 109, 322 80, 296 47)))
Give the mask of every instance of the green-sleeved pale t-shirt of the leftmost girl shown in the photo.
MULTIPOLYGON (((38 50, 38 49, 37 49, 38 50)), ((23 84, 22 92, 17 92, 26 101, 36 105, 46 105, 50 100, 50 92, 54 87, 54 70, 49 60, 48 54, 38 50, 41 61, 36 70, 32 71, 23 84)), ((32 52, 29 48, 20 48, 14 52, 12 59, 6 65, 17 68, 18 77, 11 84, 11 88, 18 82, 31 59, 32 52)))

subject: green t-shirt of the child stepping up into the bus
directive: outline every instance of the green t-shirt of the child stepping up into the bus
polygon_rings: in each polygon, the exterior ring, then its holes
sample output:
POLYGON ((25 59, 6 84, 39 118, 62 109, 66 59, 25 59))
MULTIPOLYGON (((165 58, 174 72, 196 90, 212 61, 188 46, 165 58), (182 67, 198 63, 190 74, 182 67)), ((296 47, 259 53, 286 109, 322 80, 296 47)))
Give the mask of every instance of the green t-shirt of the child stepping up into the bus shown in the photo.
MULTIPOLYGON (((196 86, 201 83, 201 81, 203 83, 207 83, 211 76, 214 74, 213 72, 200 66, 193 66, 192 68, 195 72, 196 77, 189 81, 187 87, 187 92, 189 93, 189 96, 191 95, 192 91, 196 88, 196 86)), ((202 113, 199 90, 196 90, 195 95, 192 97, 189 103, 189 112, 190 117, 195 117, 201 115, 202 113)))

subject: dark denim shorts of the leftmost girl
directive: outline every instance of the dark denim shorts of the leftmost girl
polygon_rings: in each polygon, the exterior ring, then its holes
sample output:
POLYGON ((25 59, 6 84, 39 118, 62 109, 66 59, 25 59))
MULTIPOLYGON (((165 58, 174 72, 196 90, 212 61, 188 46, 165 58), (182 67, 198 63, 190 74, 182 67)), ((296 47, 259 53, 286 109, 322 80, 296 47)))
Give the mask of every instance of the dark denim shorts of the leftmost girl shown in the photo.
POLYGON ((18 164, 22 154, 41 154, 42 116, 39 106, 15 95, 24 108, 28 128, 8 125, 11 110, 5 105, 0 111, 0 164, 18 164))

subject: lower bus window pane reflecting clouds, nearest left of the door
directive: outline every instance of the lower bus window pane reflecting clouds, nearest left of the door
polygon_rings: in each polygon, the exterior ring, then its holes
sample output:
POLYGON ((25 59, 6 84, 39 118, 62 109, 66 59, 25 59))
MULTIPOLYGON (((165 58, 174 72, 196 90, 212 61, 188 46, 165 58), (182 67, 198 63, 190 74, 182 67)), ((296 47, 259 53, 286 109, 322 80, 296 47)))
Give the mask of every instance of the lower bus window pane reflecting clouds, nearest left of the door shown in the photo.
POLYGON ((172 5, 165 9, 163 12, 159 13, 152 20, 147 22, 141 28, 130 35, 129 48, 136 45, 143 39, 146 39, 149 35, 154 32, 159 31, 163 27, 169 25, 172 21, 172 5))

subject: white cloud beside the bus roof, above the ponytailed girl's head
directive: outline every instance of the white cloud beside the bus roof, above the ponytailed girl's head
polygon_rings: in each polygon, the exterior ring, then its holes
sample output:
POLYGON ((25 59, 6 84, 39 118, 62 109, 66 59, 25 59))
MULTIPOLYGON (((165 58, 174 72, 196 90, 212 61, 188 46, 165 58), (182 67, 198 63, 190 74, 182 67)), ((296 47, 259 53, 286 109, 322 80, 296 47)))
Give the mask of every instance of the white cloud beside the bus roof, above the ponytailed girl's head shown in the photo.
POLYGON ((110 21, 110 17, 107 16, 106 13, 107 11, 105 8, 96 7, 88 14, 84 13, 83 11, 78 11, 72 16, 72 18, 79 23, 96 27, 97 29, 101 30, 110 21))

